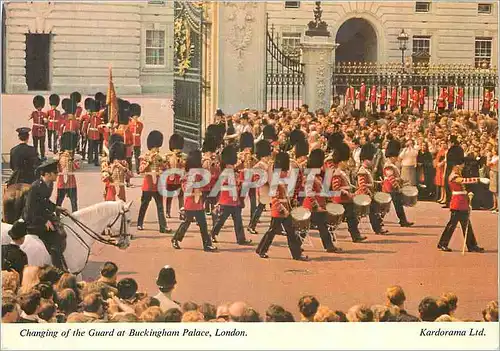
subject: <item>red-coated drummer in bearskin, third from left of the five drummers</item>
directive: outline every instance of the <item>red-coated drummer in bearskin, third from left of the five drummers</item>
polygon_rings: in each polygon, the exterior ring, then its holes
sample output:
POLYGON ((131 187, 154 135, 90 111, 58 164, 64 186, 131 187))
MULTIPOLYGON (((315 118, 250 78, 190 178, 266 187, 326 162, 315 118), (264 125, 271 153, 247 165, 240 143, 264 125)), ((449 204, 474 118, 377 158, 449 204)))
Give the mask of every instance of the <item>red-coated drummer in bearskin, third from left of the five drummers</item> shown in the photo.
POLYGON ((349 146, 343 141, 334 146, 332 162, 335 170, 332 177, 332 190, 335 192, 335 195, 332 200, 344 207, 347 229, 349 234, 351 234, 352 241, 357 243, 366 240, 366 236, 361 236, 359 231, 359 220, 354 211, 354 203, 352 201, 352 185, 345 173, 347 161, 349 161, 350 157, 351 151, 349 150, 349 146))

